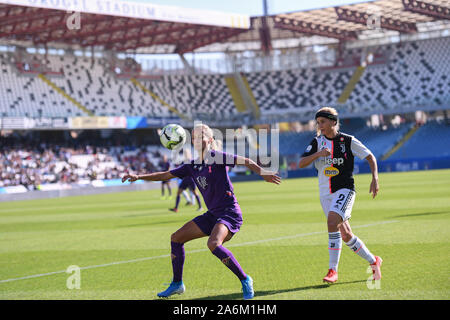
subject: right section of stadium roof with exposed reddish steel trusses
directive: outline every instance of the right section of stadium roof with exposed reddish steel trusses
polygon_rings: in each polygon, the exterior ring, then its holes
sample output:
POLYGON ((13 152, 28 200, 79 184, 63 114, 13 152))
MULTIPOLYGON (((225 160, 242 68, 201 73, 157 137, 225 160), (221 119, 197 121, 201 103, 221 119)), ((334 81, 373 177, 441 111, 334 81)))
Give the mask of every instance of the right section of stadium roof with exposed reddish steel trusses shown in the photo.
MULTIPOLYGON (((226 43, 208 45, 197 51, 243 51, 245 47, 258 50, 261 19, 253 17, 248 32, 234 36, 226 43)), ((280 49, 396 35, 424 35, 450 31, 450 3, 447 0, 368 1, 272 15, 267 17, 267 25, 273 47, 280 49)))

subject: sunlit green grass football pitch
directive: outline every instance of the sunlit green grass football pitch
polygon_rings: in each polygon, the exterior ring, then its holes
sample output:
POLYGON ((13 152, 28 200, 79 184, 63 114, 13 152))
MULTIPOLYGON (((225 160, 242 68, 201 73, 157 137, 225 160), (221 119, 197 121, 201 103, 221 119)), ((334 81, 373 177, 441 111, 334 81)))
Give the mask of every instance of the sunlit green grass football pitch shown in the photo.
MULTIPOLYGON (((375 199, 370 178, 355 176, 350 223, 384 260, 379 283, 345 244, 338 282, 322 282, 317 178, 234 184, 244 224, 224 246, 254 279, 255 299, 449 299, 450 170, 380 174, 375 199)), ((170 235, 199 214, 184 202, 170 212, 174 199, 156 189, 0 203, 0 299, 157 299, 172 277, 170 235)), ((171 299, 242 298, 206 240, 185 245, 186 292, 171 299)))

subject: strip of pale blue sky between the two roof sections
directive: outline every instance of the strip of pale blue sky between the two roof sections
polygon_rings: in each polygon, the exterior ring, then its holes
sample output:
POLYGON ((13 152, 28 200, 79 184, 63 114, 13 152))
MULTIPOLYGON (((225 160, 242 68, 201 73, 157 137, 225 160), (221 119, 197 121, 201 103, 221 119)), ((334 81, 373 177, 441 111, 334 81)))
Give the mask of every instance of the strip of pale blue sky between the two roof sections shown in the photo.
MULTIPOLYGON (((123 0, 146 2, 192 9, 216 10, 231 13, 260 16, 263 14, 263 0, 123 0)), ((370 0, 267 0, 269 14, 334 7, 344 4, 369 2, 370 0)))

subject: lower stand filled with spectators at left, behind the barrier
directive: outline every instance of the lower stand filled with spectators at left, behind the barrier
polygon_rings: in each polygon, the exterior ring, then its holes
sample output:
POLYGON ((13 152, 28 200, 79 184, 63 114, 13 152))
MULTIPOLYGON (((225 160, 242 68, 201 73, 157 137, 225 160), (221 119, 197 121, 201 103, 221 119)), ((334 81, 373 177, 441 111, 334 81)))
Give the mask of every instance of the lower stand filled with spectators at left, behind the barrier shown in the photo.
POLYGON ((158 168, 162 147, 49 143, 5 139, 0 148, 0 187, 23 185, 38 190, 45 184, 81 184, 143 174, 158 168))

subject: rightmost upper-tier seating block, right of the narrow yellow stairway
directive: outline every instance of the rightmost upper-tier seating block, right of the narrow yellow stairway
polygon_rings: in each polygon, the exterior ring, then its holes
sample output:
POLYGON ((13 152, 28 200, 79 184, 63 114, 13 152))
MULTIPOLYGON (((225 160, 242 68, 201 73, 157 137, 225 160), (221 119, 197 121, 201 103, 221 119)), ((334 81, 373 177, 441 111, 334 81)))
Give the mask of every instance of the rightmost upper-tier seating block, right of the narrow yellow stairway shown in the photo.
POLYGON ((368 67, 349 98, 352 110, 443 105, 450 100, 448 38, 388 45, 387 65, 368 67))

